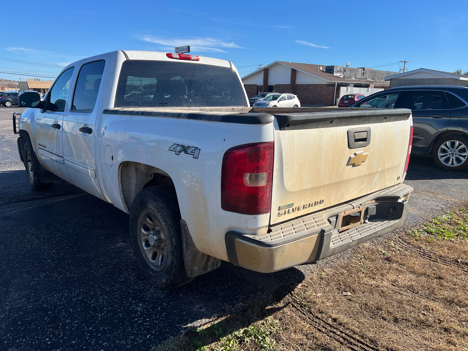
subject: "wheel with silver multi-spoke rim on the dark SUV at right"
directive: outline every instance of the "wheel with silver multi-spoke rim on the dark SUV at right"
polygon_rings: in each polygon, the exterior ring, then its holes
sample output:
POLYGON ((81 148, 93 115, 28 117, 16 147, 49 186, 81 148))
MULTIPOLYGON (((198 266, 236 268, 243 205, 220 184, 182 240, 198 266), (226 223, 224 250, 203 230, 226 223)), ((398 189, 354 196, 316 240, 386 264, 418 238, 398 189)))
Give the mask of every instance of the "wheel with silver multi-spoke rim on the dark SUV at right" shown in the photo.
POLYGON ((439 168, 459 172, 468 167, 468 139, 449 135, 440 139, 432 149, 432 158, 439 168))

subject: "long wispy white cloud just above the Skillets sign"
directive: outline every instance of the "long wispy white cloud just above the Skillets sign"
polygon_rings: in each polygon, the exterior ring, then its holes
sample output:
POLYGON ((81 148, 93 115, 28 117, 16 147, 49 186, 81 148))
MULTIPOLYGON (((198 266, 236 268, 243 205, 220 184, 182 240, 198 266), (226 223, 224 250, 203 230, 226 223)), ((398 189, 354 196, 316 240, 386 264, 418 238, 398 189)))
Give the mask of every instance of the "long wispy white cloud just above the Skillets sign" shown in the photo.
MULTIPOLYGON (((190 50, 208 51, 208 52, 227 52, 219 48, 240 48, 241 46, 235 43, 225 43, 222 40, 212 38, 195 38, 195 39, 163 39, 161 37, 142 36, 140 40, 148 43, 160 44, 166 47, 176 47, 190 45, 190 50)), ((172 49, 171 49, 172 50, 172 49)))

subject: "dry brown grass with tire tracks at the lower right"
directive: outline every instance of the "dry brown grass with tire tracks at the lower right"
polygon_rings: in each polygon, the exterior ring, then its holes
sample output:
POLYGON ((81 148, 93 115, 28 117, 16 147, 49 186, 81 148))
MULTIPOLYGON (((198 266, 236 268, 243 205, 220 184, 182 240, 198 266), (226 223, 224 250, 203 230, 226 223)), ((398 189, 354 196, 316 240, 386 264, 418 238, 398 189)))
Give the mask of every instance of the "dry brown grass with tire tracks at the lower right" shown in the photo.
POLYGON ((468 350, 468 215, 441 218, 152 350, 468 350))

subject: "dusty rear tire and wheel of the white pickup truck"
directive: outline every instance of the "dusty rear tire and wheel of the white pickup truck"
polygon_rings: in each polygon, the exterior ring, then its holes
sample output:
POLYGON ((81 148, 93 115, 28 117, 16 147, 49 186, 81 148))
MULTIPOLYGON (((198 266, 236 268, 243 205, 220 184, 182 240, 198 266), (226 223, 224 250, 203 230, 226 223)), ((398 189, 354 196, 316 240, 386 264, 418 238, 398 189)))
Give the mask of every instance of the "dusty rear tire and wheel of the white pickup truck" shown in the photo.
POLYGON ((180 212, 172 186, 141 190, 133 200, 129 225, 133 253, 153 285, 174 289, 193 279, 185 273, 180 212))

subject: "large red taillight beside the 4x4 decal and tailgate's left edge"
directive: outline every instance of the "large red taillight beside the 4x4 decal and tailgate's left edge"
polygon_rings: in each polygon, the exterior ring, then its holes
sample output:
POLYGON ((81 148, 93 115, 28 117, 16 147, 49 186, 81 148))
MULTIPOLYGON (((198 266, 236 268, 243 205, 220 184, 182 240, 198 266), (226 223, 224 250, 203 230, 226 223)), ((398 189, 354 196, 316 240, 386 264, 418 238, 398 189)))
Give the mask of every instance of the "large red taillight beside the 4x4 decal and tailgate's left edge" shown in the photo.
POLYGON ((223 156, 221 208, 243 214, 271 210, 273 142, 231 147, 223 156))

